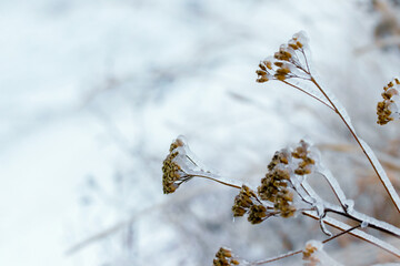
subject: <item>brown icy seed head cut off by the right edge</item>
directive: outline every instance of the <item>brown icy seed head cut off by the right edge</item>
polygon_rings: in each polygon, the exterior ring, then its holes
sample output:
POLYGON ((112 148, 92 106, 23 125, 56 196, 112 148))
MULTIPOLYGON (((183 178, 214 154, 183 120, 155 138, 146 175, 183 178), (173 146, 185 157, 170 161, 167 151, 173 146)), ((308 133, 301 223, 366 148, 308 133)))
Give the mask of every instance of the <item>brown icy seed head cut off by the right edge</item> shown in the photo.
POLYGON ((383 88, 383 101, 379 102, 377 106, 378 124, 383 125, 394 119, 400 119, 399 89, 400 81, 398 79, 392 80, 383 88))

